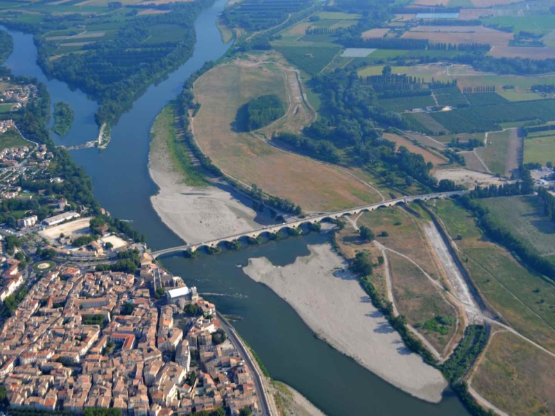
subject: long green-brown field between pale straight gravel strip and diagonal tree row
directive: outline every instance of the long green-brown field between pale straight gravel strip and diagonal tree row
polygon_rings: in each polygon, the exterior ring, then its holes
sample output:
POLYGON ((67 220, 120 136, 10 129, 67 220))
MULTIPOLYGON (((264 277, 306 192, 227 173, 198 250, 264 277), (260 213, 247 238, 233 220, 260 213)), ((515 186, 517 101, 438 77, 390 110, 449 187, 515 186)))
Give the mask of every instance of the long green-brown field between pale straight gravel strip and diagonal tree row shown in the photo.
POLYGON ((555 352, 555 286, 534 275, 481 235, 475 219, 452 200, 433 203, 455 238, 479 292, 517 331, 555 352))

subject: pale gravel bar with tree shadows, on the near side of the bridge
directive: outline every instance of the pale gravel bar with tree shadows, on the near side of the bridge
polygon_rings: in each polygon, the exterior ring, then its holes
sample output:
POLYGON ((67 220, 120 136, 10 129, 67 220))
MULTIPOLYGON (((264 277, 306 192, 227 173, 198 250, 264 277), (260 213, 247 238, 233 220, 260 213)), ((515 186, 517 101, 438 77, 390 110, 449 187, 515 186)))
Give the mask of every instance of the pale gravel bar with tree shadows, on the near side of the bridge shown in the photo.
POLYGON ((447 382, 402 343, 370 303, 345 261, 330 245, 311 245, 311 254, 276 267, 250 259, 244 271, 286 300, 319 337, 368 370, 420 399, 438 402, 447 382))

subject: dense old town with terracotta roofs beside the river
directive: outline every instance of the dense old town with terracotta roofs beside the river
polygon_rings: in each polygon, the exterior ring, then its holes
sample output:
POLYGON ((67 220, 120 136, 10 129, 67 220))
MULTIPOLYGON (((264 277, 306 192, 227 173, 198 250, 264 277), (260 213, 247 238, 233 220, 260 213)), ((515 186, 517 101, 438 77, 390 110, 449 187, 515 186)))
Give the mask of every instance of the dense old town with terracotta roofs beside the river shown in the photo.
POLYGON ((225 318, 148 253, 140 260, 137 275, 73 266, 37 273, 0 332, 11 408, 257 412, 252 364, 225 318))

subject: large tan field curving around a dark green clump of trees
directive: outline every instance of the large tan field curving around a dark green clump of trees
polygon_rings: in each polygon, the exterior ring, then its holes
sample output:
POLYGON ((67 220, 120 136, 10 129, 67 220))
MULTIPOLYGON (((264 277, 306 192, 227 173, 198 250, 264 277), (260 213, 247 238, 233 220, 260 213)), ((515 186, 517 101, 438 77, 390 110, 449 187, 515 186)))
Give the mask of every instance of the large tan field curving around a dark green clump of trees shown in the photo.
POLYGON ((237 110, 252 98, 276 94, 289 103, 284 73, 279 69, 237 61, 221 64, 197 80, 194 94, 201 104, 194 118, 198 144, 214 164, 237 180, 257 184, 271 195, 314 211, 379 200, 372 189, 348 173, 233 130, 237 110))

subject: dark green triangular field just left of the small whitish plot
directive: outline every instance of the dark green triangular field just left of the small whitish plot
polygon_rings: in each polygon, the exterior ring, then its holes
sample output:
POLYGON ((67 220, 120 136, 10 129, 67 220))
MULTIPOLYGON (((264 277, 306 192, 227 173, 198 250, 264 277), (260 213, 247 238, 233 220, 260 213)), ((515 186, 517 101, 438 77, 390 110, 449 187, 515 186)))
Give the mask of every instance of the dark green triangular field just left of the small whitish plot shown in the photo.
POLYGON ((318 75, 339 53, 339 46, 275 46, 275 50, 302 71, 318 75))

